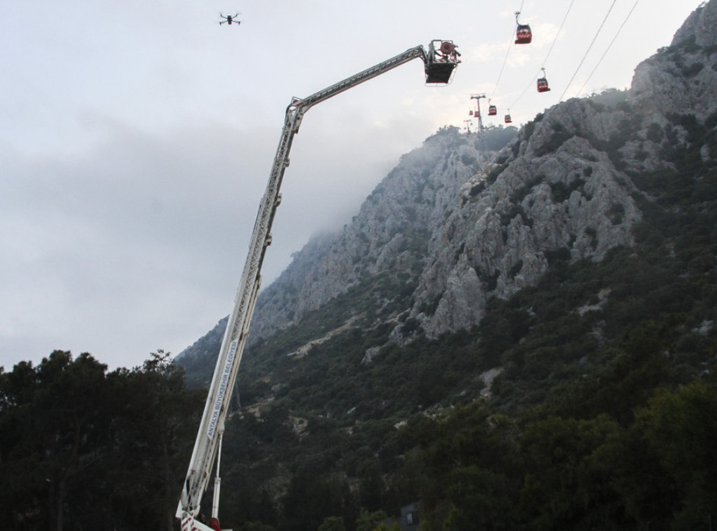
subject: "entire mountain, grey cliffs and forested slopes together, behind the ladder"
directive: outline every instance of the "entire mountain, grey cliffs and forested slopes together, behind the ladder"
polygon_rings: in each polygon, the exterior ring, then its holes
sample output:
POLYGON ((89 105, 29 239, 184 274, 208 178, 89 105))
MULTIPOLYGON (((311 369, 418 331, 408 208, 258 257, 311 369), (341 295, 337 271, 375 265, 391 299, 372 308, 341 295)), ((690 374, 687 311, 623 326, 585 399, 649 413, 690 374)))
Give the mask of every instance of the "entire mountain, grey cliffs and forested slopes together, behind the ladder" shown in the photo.
MULTIPOLYGON (((313 529, 420 501, 446 529, 703 528, 716 23, 713 0, 630 90, 483 138, 441 128, 295 254, 239 369, 229 517, 313 529)), ((224 326, 176 357, 194 385, 224 326)))

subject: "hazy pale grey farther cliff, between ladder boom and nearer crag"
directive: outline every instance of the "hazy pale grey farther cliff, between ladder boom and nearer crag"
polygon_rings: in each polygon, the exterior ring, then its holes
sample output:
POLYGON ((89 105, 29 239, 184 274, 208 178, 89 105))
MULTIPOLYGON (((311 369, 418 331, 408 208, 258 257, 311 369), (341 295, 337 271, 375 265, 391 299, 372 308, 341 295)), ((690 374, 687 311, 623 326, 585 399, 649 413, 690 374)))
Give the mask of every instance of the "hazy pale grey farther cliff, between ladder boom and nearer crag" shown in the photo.
MULTIPOLYGON (((463 184, 485 156, 455 128, 402 156, 340 234, 321 235, 262 291, 250 338, 298 323, 309 311, 366 278, 388 272, 416 279, 427 243, 450 216, 463 184)), ((404 278, 404 282, 409 279, 404 278)))

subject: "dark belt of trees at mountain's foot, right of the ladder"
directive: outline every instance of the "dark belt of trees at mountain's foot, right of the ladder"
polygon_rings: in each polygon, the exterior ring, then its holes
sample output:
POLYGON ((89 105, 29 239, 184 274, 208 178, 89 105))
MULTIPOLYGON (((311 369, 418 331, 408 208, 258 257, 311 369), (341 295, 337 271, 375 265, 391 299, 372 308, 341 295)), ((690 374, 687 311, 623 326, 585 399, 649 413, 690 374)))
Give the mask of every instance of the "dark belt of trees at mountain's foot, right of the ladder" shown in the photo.
POLYGON ((604 365, 513 413, 479 399, 398 430, 387 419, 341 428, 310 417, 303 433, 281 406, 262 420, 244 415, 228 428, 224 518, 235 529, 372 531, 419 502, 422 530, 708 531, 717 382, 711 367, 670 383, 672 326, 641 325, 604 365))

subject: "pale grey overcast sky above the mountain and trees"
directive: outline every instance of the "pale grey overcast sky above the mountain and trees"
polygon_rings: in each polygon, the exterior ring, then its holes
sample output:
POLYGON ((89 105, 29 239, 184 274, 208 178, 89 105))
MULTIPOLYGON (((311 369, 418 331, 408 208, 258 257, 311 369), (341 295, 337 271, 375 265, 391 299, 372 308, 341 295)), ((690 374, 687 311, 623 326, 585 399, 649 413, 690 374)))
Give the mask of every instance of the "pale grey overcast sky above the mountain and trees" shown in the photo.
POLYGON ((625 23, 634 0, 574 0, 549 53, 571 0, 7 2, 0 366, 63 349, 134 367, 229 314, 292 96, 431 39, 462 52, 445 88, 424 86, 414 60, 306 114, 265 286, 311 234, 350 221, 401 154, 465 126, 471 94, 525 123, 579 94, 623 23, 583 93, 627 88, 700 3, 641 0, 625 23), (533 43, 509 46, 521 4, 533 43), (220 11, 241 25, 220 27, 220 11), (552 90, 538 94, 543 66, 552 90))

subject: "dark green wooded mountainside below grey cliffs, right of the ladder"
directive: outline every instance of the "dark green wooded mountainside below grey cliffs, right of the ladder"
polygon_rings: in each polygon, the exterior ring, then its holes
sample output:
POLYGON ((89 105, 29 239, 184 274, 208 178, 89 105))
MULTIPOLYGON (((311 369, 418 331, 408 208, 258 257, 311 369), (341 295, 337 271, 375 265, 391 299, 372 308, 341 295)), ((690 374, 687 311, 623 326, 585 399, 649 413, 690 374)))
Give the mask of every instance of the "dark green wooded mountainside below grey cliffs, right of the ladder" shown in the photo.
MULTIPOLYGON (((379 273, 247 352, 225 517, 288 530, 339 518, 353 530, 361 509, 390 519, 421 502, 425 529, 478 519, 489 529, 707 530, 717 500, 717 169, 679 146, 678 128, 690 145, 716 146, 712 120, 671 116, 650 130, 674 169, 629 175, 643 213, 635 245, 597 262, 552 250, 536 286, 491 299, 475 329, 389 342, 394 324, 375 319, 372 301, 412 288, 379 273), (356 309, 379 324, 348 327, 300 362, 286 355, 356 309), (493 437, 500 452, 483 454, 493 437), (663 453, 675 448, 695 461, 675 464, 663 453)), ((617 146, 631 129, 619 134, 594 141, 627 170, 617 146)))

